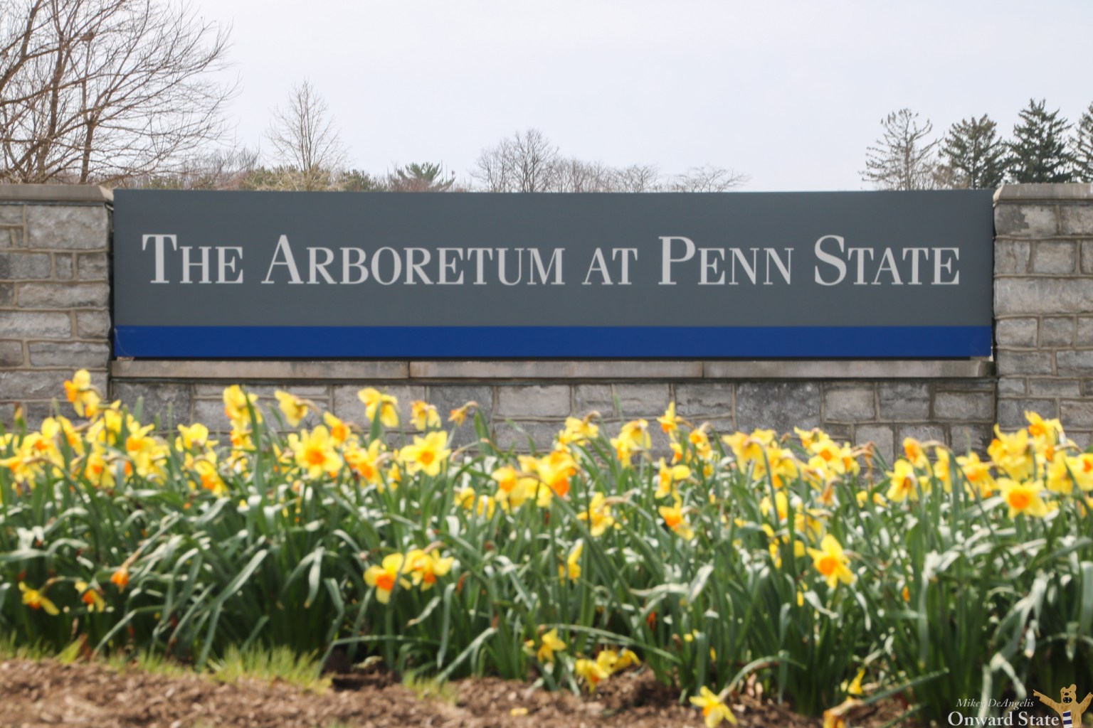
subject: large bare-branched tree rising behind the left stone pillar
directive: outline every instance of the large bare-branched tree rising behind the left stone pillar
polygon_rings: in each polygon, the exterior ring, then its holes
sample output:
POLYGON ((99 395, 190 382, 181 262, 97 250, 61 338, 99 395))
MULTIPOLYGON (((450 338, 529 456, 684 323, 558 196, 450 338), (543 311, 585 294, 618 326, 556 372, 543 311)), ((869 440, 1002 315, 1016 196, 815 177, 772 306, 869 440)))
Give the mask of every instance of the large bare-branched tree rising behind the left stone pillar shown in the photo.
POLYGON ((0 0, 0 181, 180 169, 224 134, 227 37, 165 0, 0 0))

